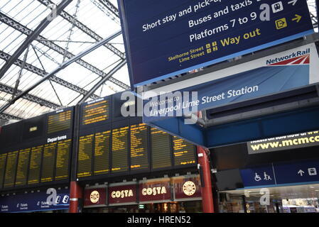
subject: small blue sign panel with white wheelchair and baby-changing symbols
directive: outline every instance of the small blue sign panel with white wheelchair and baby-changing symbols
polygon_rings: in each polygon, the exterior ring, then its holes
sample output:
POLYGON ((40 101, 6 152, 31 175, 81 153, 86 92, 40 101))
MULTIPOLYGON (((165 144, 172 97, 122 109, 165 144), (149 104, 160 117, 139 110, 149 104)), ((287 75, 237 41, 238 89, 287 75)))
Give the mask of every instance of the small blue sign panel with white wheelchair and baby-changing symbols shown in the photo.
POLYGON ((274 171, 271 165, 240 170, 244 187, 256 187, 276 184, 274 171))

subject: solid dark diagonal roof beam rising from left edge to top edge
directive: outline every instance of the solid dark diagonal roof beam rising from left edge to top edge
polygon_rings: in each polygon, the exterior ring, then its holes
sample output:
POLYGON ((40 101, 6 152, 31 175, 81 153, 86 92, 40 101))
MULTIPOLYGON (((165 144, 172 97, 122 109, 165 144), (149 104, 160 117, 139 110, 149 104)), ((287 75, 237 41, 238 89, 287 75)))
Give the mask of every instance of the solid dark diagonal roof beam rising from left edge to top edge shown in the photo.
MULTIPOLYGON (((57 11, 56 11, 57 15, 59 15, 60 12, 63 11, 63 9, 65 9, 65 7, 68 6, 71 2, 72 2, 72 0, 62 1, 61 4, 59 4, 57 6, 57 8, 56 8, 57 9, 57 11)), ((52 19, 45 18, 43 21, 41 21, 41 23, 38 25, 38 27, 28 35, 26 40, 20 45, 20 47, 13 53, 13 55, 10 57, 10 59, 1 68, 1 70, 0 70, 0 79, 2 77, 4 77, 4 74, 6 74, 6 72, 9 70, 11 65, 13 65, 13 63, 18 59, 18 57, 20 57, 20 55, 22 55, 24 50, 26 50, 26 48, 28 48, 28 45, 30 45, 33 42, 33 40, 35 40, 38 37, 38 35, 40 35, 40 33, 46 27, 48 27, 48 25, 52 21, 53 21, 52 19)))

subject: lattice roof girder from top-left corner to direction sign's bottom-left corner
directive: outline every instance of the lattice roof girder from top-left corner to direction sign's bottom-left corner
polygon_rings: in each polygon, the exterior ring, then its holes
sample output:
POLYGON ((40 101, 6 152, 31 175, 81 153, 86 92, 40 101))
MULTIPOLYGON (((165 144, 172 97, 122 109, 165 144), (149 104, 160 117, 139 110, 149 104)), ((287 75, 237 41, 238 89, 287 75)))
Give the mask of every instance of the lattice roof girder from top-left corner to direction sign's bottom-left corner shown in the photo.
MULTIPOLYGON (((0 21, 3 23, 6 23, 8 26, 11 26, 12 28, 15 28, 17 31, 20 31, 23 34, 29 35, 32 33, 31 29, 27 28, 26 26, 21 25, 21 23, 18 23, 17 21, 14 21, 12 18, 9 18, 4 13, 0 12, 0 21)), ((56 45, 52 41, 46 40, 43 36, 39 35, 37 38, 39 43, 42 43, 43 45, 47 46, 48 48, 55 50, 55 52, 58 52, 60 55, 65 54, 65 49, 61 48, 59 45, 56 45)), ((70 52, 67 52, 67 57, 72 58, 75 57, 70 52)), ((90 65, 90 63, 85 62, 84 60, 78 59, 77 64, 81 65, 82 67, 85 67, 87 70, 90 70, 91 72, 94 72, 95 74, 98 74, 100 77, 106 77, 107 74, 103 72, 102 70, 97 69, 97 67, 94 67, 93 65, 90 65)), ((120 82, 118 79, 115 79, 113 77, 109 78, 109 81, 117 84, 117 86, 127 90, 130 89, 130 87, 123 82, 120 82)))

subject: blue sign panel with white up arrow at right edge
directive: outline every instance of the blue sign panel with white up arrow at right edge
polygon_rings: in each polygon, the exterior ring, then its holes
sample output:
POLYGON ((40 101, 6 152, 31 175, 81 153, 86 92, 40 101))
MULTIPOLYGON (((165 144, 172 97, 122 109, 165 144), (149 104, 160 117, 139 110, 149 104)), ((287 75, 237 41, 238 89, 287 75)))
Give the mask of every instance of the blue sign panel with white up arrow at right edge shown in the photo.
POLYGON ((277 184, 319 182, 319 160, 274 164, 277 184))

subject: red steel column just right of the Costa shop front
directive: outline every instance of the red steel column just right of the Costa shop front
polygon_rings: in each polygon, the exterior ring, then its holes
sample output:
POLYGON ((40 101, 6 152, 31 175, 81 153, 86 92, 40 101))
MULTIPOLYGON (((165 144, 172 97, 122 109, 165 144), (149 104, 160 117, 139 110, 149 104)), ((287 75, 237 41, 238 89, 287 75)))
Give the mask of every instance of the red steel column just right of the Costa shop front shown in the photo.
POLYGON ((210 177, 210 162, 205 148, 197 146, 198 163, 202 167, 202 181, 205 186, 202 187, 202 211, 204 213, 215 213, 212 200, 212 179, 210 177))

